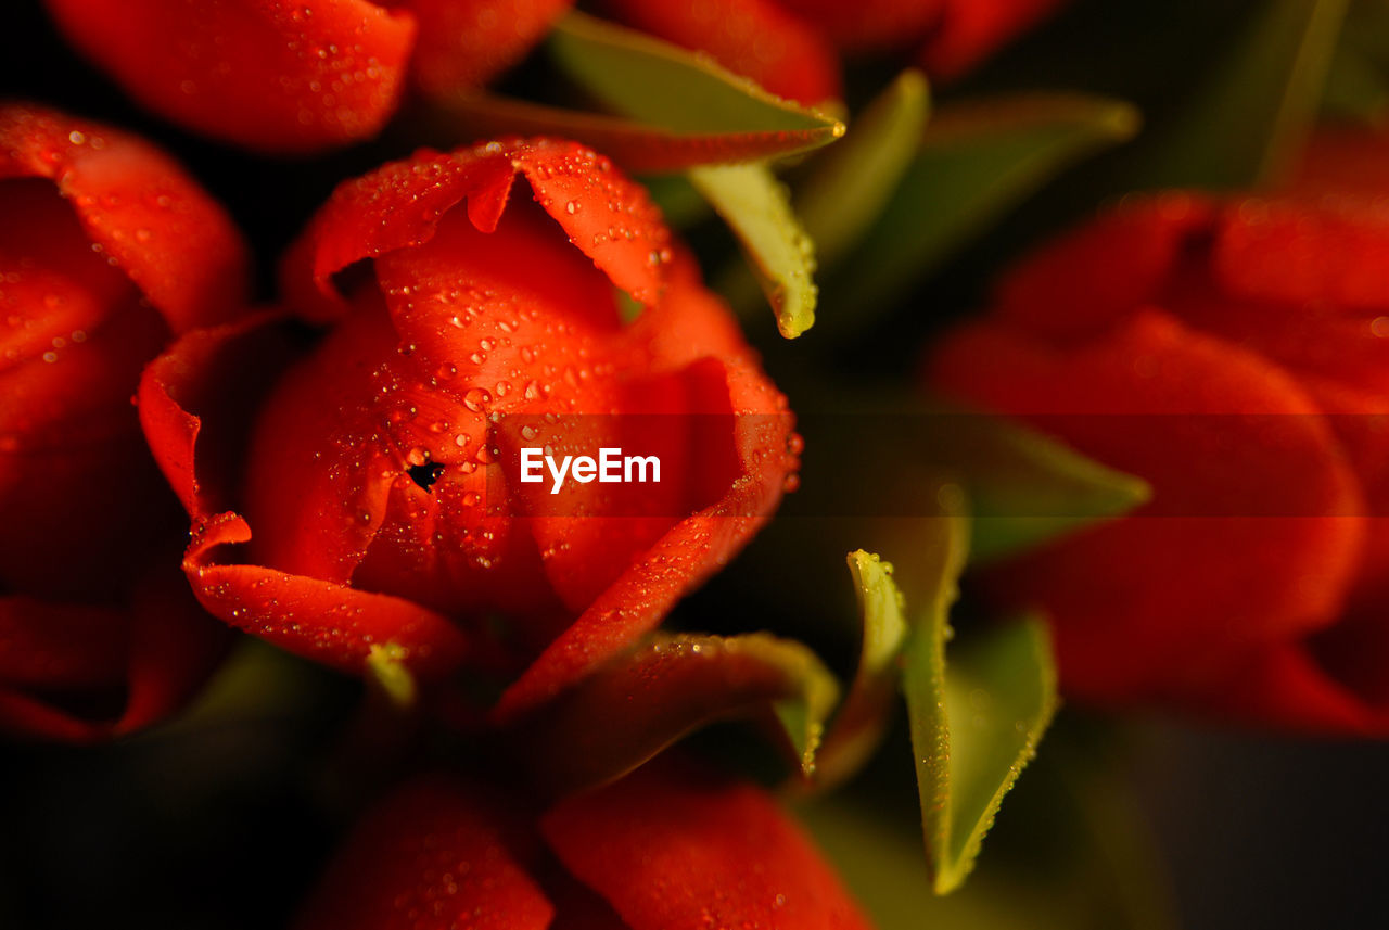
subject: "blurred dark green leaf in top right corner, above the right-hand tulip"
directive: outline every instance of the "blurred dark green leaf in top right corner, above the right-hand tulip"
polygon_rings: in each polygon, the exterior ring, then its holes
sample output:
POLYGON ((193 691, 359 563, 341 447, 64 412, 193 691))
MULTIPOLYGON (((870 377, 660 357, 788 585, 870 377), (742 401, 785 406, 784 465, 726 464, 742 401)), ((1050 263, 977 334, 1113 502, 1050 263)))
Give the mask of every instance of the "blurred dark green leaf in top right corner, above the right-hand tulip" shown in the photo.
POLYGON ((1149 146, 1145 187, 1275 179, 1311 129, 1347 0, 1270 0, 1178 122, 1149 146))

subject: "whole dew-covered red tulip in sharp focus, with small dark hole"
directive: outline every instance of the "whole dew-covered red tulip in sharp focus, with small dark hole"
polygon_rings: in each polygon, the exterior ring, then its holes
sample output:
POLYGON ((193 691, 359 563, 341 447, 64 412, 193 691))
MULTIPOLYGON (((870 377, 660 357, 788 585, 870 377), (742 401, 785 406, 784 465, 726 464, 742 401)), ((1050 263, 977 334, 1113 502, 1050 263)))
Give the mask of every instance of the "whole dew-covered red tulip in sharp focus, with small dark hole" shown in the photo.
POLYGON ((249 448, 244 494, 231 457, 193 443, 229 422, 210 398, 264 368, 228 362, 246 328, 176 344, 140 411, 194 521, 203 604, 338 668, 390 641, 425 679, 525 669, 501 712, 529 707, 657 626, 796 466, 785 398, 732 316, 646 193, 572 143, 421 151, 342 185, 286 291, 331 332, 226 443, 249 448), (536 203, 510 196, 518 178, 536 203), (635 322, 617 289, 644 305, 635 322), (597 484, 518 483, 519 423, 596 454, 624 415, 686 430, 640 514, 597 484))

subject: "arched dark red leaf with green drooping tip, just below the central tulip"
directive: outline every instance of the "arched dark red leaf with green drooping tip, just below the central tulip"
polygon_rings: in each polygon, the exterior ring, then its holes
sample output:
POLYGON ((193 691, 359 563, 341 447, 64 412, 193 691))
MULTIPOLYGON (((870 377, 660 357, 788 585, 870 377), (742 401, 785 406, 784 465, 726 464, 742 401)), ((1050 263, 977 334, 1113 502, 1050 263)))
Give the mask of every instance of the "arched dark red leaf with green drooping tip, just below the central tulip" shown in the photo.
POLYGON ((765 633, 657 633, 558 697, 515 733, 536 781, 556 793, 604 784, 714 720, 775 723, 807 776, 839 701, 806 645, 765 633))

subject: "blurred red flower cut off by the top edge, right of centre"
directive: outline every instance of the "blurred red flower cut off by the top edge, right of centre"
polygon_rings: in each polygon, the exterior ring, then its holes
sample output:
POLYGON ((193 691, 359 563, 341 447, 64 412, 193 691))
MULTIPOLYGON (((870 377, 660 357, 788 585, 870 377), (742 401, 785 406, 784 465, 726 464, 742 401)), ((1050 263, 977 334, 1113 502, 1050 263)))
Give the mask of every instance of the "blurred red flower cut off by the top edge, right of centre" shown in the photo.
POLYGON ((918 50, 933 78, 954 78, 1063 0, 603 0, 632 26, 706 51, 772 93, 815 105, 842 96, 839 53, 918 50))

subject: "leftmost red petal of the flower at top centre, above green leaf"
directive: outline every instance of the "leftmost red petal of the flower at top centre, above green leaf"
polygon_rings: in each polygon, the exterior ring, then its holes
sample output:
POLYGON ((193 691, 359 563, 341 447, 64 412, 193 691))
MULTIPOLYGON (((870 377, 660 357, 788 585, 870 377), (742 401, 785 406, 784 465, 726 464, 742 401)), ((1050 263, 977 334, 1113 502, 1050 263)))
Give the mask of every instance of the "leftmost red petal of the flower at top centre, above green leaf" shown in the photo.
POLYGON ((843 97, 829 40, 776 0, 604 0, 603 7, 636 29, 710 54, 779 97, 807 105, 843 97))

